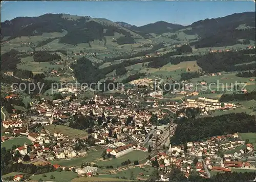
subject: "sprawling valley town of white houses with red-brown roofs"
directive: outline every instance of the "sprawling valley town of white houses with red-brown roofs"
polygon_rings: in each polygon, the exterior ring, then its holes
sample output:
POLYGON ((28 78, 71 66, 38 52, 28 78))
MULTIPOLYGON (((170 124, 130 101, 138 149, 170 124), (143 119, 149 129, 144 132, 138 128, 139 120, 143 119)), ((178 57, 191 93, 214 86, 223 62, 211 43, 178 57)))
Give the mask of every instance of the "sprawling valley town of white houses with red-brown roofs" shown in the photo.
MULTIPOLYGON (((95 95, 91 99, 81 99, 78 96, 81 90, 76 88, 61 88, 58 91, 67 95, 66 98, 52 102, 38 97, 35 103, 30 103, 29 110, 16 113, 17 110, 13 109, 13 113, 3 121, 5 135, 1 137, 2 146, 15 139, 26 139, 27 142, 19 142, 18 145, 9 144, 14 162, 52 165, 56 170, 73 171, 78 176, 88 177, 116 174, 115 167, 107 165, 108 161, 115 164, 122 156, 131 156, 134 152, 137 155, 131 157, 134 161, 127 157, 129 162, 124 160, 122 166, 158 167, 159 180, 162 181, 169 180, 167 174, 174 166, 186 178, 190 174, 209 178, 214 172, 255 169, 254 146, 239 133, 218 135, 205 141, 189 141, 185 145, 170 144, 177 126, 173 121, 187 118, 187 109, 199 109, 198 116, 201 116, 209 115, 212 110, 236 108, 235 104, 205 97, 199 97, 198 101, 184 99, 182 103, 160 104, 158 99, 150 96, 152 92, 145 94, 137 86, 121 88, 127 98, 95 95), (141 94, 138 96, 143 98, 145 95, 153 101, 143 109, 133 97, 133 93, 139 90, 141 94), (97 160, 87 160, 95 151, 100 151, 95 156, 97 160), (80 158, 81 162, 87 161, 87 165, 72 163, 80 158)), ((18 93, 11 93, 5 99, 19 97, 18 93)), ((22 178, 22 174, 16 175, 13 180, 22 178)), ((146 176, 143 178, 138 174, 137 179, 146 179, 146 176)))

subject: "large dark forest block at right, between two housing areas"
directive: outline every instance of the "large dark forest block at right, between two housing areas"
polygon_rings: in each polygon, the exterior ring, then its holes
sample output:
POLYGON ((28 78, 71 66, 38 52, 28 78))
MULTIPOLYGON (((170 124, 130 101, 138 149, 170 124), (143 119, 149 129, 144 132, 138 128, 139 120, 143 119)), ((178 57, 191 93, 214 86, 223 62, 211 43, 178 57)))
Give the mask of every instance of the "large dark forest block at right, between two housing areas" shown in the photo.
POLYGON ((224 133, 254 132, 254 125, 254 116, 247 115, 244 112, 198 119, 182 118, 178 121, 171 143, 179 145, 189 141, 206 140, 209 137, 223 135, 224 133))

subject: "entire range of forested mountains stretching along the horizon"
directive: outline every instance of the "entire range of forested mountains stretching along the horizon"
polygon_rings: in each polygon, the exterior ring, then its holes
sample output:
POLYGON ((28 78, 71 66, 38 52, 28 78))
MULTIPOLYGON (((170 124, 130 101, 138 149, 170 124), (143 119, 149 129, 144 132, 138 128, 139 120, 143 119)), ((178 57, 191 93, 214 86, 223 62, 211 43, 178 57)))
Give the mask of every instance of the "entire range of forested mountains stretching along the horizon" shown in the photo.
MULTIPOLYGON (((190 42, 190 45, 195 45, 195 48, 223 47, 239 43, 240 39, 246 39, 248 42, 255 40, 255 12, 199 20, 189 26, 157 21, 154 24, 137 27, 122 21, 113 22, 105 18, 69 14, 17 17, 1 22, 1 41, 21 36, 42 35, 42 33, 65 32, 60 37, 56 37, 58 42, 76 45, 93 40, 106 42, 105 36, 114 36, 114 33, 119 33, 122 37, 112 41, 127 44, 136 43, 143 38, 148 39, 150 33, 175 33, 179 30, 188 35, 198 35, 198 40, 190 42)), ((39 45, 53 41, 54 37, 51 38, 39 45)))

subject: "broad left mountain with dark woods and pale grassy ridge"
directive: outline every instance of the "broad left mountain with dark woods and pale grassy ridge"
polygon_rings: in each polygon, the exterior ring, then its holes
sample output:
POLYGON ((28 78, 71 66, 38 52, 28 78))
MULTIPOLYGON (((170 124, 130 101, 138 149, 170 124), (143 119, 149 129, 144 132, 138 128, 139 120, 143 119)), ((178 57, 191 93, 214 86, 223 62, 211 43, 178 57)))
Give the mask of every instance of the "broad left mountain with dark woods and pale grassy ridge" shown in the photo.
MULTIPOLYGON (((95 39, 102 40, 104 36, 114 36, 115 32, 129 37, 126 38, 129 39, 129 43, 135 42, 133 40, 134 36, 141 37, 111 20, 91 18, 90 16, 45 14, 38 17, 17 17, 10 21, 1 22, 1 39, 8 37, 7 40, 21 36, 63 31, 68 33, 60 37, 59 43, 74 45, 89 43, 95 39)), ((117 42, 126 43, 125 41, 118 41, 118 39, 117 42)))

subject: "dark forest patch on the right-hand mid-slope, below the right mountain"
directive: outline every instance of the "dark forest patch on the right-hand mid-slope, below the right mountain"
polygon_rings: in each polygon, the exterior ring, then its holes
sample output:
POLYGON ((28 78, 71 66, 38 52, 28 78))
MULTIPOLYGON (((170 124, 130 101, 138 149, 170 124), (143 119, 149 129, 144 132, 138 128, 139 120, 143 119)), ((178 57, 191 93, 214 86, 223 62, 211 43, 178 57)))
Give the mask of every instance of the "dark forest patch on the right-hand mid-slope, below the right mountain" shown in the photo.
MULTIPOLYGON (((253 53, 251 53, 253 54, 253 53)), ((197 64, 205 71, 206 73, 216 73, 216 72, 230 72, 230 71, 242 71, 239 70, 239 67, 247 65, 234 65, 240 63, 248 63, 255 60, 254 55, 244 54, 243 51, 230 51, 230 52, 222 52, 222 53, 209 53, 201 56, 197 60, 197 64)), ((254 65, 254 64, 253 64, 254 65)), ((249 70, 252 67, 248 67, 249 70)))

